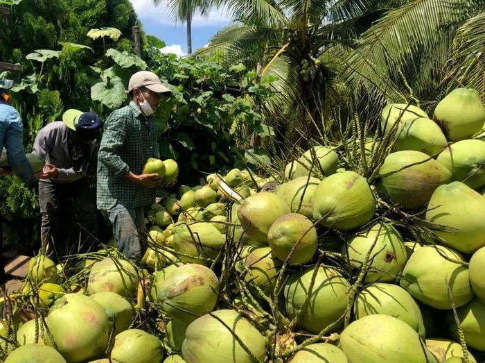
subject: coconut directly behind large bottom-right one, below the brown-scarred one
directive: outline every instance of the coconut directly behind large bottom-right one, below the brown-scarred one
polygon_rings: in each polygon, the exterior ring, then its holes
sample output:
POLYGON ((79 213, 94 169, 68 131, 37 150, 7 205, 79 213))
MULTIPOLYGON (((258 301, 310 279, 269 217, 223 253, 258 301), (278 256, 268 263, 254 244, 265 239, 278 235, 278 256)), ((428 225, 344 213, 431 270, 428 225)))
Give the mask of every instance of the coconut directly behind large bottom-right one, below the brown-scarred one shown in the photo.
POLYGON ((425 337, 423 315, 411 295, 398 285, 376 282, 360 292, 353 305, 355 319, 372 314, 398 318, 425 337))

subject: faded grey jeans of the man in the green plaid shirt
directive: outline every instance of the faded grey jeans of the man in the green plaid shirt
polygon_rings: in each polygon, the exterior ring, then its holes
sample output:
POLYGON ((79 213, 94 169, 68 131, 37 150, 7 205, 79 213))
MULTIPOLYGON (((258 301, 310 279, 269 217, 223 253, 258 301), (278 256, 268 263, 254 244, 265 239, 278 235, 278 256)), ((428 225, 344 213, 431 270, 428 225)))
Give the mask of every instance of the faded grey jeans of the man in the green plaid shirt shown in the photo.
POLYGON ((125 208, 124 205, 116 203, 106 212, 113 225, 118 251, 133 262, 139 262, 147 248, 143 207, 125 208))

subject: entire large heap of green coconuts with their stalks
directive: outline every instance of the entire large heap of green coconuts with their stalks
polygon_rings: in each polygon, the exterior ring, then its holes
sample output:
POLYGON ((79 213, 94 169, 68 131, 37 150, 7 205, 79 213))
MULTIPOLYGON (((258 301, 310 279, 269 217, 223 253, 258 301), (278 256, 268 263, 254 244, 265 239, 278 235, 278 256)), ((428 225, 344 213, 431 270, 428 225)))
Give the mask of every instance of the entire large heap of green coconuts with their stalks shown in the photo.
POLYGON ((139 264, 116 241, 33 258, 3 299, 3 357, 481 361, 485 109, 457 89, 427 112, 389 104, 265 174, 179 186, 147 211, 139 264))

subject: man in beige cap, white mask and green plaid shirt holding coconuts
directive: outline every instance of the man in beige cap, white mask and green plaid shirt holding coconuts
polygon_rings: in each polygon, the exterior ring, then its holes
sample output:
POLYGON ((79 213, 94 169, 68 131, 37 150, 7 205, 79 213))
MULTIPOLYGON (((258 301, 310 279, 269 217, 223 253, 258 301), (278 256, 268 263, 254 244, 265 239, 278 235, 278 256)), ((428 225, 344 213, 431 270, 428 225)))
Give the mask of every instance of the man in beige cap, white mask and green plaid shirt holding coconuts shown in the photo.
POLYGON ((137 262, 146 244, 143 207, 155 201, 157 174, 143 174, 148 158, 160 158, 151 115, 161 94, 170 90, 150 71, 139 71, 130 79, 129 105, 112 112, 104 125, 98 152, 98 208, 113 225, 118 250, 137 262))

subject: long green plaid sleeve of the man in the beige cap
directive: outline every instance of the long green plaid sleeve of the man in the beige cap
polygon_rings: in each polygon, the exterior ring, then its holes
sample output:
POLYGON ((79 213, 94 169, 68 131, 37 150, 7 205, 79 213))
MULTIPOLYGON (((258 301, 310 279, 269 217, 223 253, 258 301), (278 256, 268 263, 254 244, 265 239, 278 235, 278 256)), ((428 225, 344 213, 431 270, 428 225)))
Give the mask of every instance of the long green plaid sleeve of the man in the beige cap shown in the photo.
POLYGON ((113 174, 117 178, 125 176, 130 171, 130 167, 119 155, 125 144, 125 137, 129 135, 129 128, 123 115, 113 113, 106 120, 105 131, 99 146, 98 162, 105 165, 109 174, 113 174))

